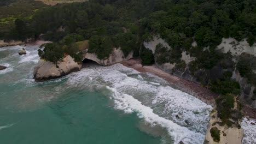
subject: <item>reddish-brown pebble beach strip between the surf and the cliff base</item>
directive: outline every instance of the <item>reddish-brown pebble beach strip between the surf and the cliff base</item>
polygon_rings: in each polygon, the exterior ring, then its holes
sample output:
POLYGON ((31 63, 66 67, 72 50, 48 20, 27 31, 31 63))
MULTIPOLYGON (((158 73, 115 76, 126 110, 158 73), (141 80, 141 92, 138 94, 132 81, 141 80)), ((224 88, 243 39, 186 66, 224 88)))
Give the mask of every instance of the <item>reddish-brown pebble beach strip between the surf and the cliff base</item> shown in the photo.
MULTIPOLYGON (((211 92, 210 89, 202 87, 197 83, 166 73, 165 71, 156 67, 155 64, 150 66, 142 66, 141 59, 139 58, 132 58, 129 61, 121 62, 121 64, 141 73, 150 73, 159 76, 168 81, 173 88, 188 93, 208 105, 212 105, 213 107, 215 105, 215 99, 218 97, 217 93, 211 92)), ((256 110, 252 107, 244 104, 242 112, 244 113, 245 117, 256 119, 256 110)))

